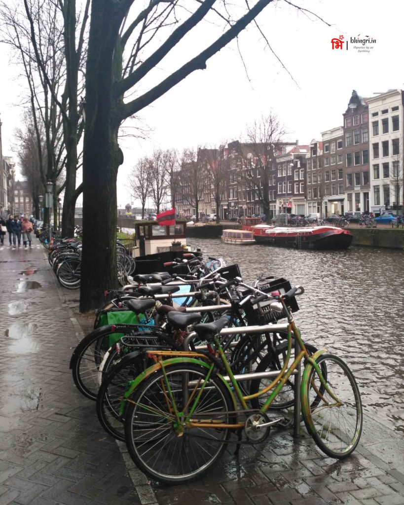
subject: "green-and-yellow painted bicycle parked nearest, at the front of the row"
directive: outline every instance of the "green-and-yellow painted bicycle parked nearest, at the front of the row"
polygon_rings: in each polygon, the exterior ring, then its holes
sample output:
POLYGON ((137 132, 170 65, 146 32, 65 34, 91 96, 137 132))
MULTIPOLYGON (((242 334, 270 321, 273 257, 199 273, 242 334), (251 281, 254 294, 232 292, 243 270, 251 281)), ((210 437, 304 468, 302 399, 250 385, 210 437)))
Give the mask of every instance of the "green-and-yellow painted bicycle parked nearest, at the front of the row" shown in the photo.
MULTIPOLYGON (((288 324, 243 328, 251 333, 275 329, 287 333, 281 370, 257 372, 255 377, 254 372, 234 375, 220 340, 239 330, 225 328, 227 318, 195 326, 195 336, 209 342, 206 354, 148 353, 154 365, 130 382, 121 405, 127 448, 143 473, 166 483, 191 481, 220 458, 231 432, 238 434, 240 443, 263 442, 270 427, 281 420, 270 417, 269 408, 302 361, 301 411, 310 435, 332 458, 346 458, 355 450, 363 422, 359 388, 340 358, 325 354, 325 349, 309 355, 286 304, 298 292, 302 289, 295 287, 284 295, 265 295, 273 299, 272 311, 286 312, 288 324), (289 364, 292 335, 301 350, 289 364), (247 395, 239 386, 243 379, 251 381, 247 395)), ((260 297, 255 302, 259 304, 260 297)))

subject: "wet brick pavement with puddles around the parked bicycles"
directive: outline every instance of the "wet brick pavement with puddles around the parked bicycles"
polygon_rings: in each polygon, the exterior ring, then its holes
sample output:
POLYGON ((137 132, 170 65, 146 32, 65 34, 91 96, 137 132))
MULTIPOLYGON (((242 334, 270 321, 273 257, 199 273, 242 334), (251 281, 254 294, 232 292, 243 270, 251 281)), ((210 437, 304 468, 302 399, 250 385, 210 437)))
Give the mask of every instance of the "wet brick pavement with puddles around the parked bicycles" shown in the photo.
POLYGON ((33 244, 0 246, 0 505, 404 505, 403 437, 368 417, 345 461, 325 457, 304 429, 298 441, 273 430, 237 457, 230 445, 194 483, 148 482, 73 384, 69 360, 86 320, 78 292, 58 286, 33 244))

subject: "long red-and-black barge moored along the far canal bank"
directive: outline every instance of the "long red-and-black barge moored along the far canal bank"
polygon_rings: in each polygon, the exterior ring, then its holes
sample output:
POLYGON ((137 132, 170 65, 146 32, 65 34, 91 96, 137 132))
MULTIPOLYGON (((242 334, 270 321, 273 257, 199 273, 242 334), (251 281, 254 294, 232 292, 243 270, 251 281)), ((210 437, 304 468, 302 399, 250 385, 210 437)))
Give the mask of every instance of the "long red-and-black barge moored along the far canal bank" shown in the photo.
POLYGON ((283 228, 268 225, 251 226, 258 244, 297 249, 347 249, 352 242, 352 234, 336 226, 313 226, 304 228, 283 228))

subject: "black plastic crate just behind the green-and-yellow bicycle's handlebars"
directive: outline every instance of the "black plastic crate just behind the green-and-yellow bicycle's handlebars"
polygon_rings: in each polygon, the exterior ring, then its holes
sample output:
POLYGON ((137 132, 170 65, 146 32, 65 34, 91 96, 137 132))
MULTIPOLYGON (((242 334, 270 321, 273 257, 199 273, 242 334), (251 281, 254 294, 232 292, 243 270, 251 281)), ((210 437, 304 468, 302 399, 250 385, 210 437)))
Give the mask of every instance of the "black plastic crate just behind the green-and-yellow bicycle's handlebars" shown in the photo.
MULTIPOLYGON (((286 293, 291 288, 290 282, 286 279, 274 279, 265 284, 261 284, 257 286, 257 289, 263 291, 264 293, 271 293, 272 291, 279 291, 280 293, 286 293)), ((276 323, 279 319, 283 319, 286 317, 285 311, 273 312, 269 308, 271 304, 271 300, 261 301, 259 304, 252 305, 248 300, 245 302, 243 308, 245 311, 245 316, 247 318, 248 324, 256 325, 256 324, 269 324, 276 323)), ((296 298, 293 296, 287 302, 287 307, 291 309, 291 311, 297 312, 299 310, 299 306, 297 305, 296 298)))

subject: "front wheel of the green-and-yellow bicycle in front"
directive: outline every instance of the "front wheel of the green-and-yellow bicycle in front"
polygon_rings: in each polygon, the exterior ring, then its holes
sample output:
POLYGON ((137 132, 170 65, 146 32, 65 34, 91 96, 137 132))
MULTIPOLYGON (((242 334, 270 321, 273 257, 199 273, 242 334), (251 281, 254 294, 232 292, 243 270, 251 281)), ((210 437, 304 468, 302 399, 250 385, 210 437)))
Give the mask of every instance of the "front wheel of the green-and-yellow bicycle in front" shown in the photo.
POLYGON ((332 395, 321 388, 319 375, 308 365, 308 380, 301 390, 303 419, 320 449, 331 458, 343 459, 355 450, 361 436, 361 394, 354 375, 340 358, 325 354, 317 364, 326 365, 326 382, 332 395), (314 408, 305 407, 312 403, 314 408))

